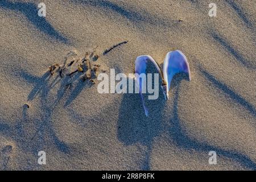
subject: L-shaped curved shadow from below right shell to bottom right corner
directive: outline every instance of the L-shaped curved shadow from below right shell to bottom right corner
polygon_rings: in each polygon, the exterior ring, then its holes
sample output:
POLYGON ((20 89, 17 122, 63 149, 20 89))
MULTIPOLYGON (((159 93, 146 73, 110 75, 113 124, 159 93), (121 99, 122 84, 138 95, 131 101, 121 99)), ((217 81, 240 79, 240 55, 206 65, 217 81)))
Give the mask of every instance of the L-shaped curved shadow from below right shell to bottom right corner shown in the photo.
POLYGON ((196 150, 199 152, 209 152, 209 151, 216 151, 217 155, 225 156, 226 158, 230 158, 232 160, 237 161, 242 166, 250 169, 256 169, 256 163, 251 160, 248 156, 240 154, 236 151, 227 151, 223 150, 222 148, 211 146, 206 143, 200 143, 195 139, 189 137, 183 127, 181 126, 181 120, 179 117, 178 105, 179 105, 179 88, 180 88, 180 81, 177 80, 175 92, 174 92, 174 109, 172 111, 172 118, 171 118, 171 127, 170 127, 170 136, 174 139, 174 142, 177 146, 184 148, 185 150, 196 150))

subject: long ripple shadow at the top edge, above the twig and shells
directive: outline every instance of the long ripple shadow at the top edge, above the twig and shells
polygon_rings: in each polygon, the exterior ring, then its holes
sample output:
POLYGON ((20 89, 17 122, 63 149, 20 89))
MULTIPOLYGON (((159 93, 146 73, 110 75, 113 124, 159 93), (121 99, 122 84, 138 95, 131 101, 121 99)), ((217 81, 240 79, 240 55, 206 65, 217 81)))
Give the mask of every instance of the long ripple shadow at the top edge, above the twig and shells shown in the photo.
MULTIPOLYGON (((177 23, 177 20, 162 19, 158 16, 148 14, 143 9, 140 9, 140 13, 134 11, 133 9, 127 9, 125 7, 119 6, 116 3, 107 1, 107 0, 98 0, 98 1, 84 1, 84 0, 71 0, 73 3, 81 3, 82 5, 103 7, 106 10, 113 11, 124 18, 130 20, 131 22, 143 22, 149 23, 154 26, 165 26, 170 27, 171 24, 177 23)), ((137 25, 137 23, 135 24, 137 25)))

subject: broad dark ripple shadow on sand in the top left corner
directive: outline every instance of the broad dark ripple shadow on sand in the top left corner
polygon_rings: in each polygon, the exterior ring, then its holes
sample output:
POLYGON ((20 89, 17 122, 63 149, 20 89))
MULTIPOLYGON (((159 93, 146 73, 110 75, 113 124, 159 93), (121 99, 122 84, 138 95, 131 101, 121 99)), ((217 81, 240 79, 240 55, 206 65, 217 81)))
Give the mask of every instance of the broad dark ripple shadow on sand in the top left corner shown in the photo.
POLYGON ((0 7, 3 9, 20 11, 24 14, 28 20, 36 27, 38 30, 44 32, 45 34, 51 36, 60 42, 69 44, 69 40, 61 35, 60 32, 55 30, 54 27, 46 20, 44 17, 38 16, 38 7, 35 3, 30 2, 10 2, 7 0, 0 1, 0 7))

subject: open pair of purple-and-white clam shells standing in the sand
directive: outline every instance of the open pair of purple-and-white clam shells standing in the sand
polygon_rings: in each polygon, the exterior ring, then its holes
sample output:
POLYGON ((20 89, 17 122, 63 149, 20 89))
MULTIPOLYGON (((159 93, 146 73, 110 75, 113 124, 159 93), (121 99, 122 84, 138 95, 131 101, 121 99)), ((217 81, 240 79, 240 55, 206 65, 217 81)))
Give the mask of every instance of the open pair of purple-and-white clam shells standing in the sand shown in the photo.
POLYGON ((191 80, 190 69, 187 57, 179 50, 168 52, 166 58, 164 59, 163 71, 160 69, 160 66, 156 63, 156 61, 148 55, 138 56, 135 61, 135 73, 136 74, 136 82, 139 87, 139 94, 142 99, 142 105, 144 109, 144 113, 148 116, 148 109, 144 104, 143 96, 142 96, 142 80, 139 79, 139 75, 142 73, 146 74, 146 68, 148 63, 153 63, 160 73, 160 76, 163 81, 162 89, 164 93, 164 97, 166 100, 169 98, 169 91, 172 78, 176 73, 188 73, 189 81, 191 80))

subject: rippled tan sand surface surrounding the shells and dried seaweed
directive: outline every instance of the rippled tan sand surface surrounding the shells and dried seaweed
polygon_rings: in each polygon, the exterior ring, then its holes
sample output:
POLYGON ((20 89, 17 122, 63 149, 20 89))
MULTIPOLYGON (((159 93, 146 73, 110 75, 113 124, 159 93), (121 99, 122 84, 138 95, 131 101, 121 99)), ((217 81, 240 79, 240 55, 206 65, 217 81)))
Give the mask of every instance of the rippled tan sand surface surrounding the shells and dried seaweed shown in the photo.
POLYGON ((0 1, 1 170, 256 170, 255 0, 44 0, 46 17, 40 2, 0 1), (138 94, 48 69, 94 51, 101 71, 127 74, 176 49, 191 81, 146 101, 148 117, 138 94))

